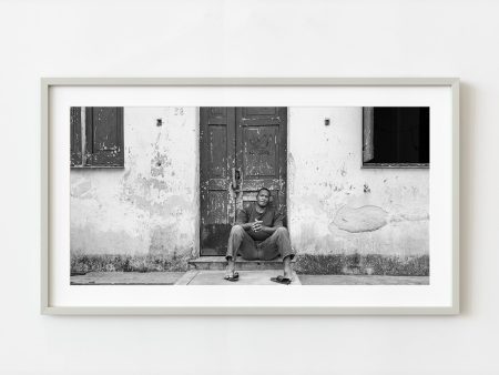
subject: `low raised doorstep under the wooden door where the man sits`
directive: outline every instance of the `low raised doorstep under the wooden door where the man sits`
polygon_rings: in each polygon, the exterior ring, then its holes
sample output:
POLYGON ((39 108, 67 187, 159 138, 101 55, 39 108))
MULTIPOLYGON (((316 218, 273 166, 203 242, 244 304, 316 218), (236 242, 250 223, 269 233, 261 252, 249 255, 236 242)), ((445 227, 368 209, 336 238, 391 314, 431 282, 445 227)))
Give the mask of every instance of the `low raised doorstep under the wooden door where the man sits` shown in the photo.
MULTIPOLYGON (((295 261, 293 260, 292 263, 295 261)), ((224 256, 200 256, 189 262, 192 270, 225 270, 227 261, 224 256)), ((242 257, 236 260, 236 270, 241 271, 263 271, 263 270, 283 270, 283 259, 279 256, 272 261, 246 261, 242 257)))

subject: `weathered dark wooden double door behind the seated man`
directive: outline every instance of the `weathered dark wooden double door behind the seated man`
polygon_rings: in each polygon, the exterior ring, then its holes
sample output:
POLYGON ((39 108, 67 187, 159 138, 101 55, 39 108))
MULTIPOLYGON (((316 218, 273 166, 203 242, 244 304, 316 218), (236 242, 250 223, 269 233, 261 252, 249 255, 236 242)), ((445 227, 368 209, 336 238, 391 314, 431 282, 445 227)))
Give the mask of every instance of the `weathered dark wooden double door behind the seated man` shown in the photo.
POLYGON ((224 255, 236 210, 259 188, 286 211, 287 109, 201 109, 201 255, 224 255))

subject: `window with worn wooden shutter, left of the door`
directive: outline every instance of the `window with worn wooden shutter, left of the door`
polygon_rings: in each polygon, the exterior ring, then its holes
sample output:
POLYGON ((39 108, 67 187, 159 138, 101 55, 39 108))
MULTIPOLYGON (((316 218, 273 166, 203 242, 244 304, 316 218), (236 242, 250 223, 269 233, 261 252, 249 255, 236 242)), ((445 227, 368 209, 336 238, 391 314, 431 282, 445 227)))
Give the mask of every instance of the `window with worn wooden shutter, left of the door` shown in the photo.
POLYGON ((72 107, 71 166, 123 168, 123 108, 72 107))

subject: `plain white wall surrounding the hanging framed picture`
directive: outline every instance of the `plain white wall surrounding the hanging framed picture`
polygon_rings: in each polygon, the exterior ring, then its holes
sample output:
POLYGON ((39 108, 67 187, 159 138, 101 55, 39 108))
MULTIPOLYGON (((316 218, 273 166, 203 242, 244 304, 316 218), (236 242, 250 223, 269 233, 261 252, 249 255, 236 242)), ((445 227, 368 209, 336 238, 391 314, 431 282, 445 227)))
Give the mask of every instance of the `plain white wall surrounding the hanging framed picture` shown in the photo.
POLYGON ((498 13, 486 0, 1 2, 0 373, 497 374, 498 13), (40 316, 42 75, 460 77, 462 314, 40 316))

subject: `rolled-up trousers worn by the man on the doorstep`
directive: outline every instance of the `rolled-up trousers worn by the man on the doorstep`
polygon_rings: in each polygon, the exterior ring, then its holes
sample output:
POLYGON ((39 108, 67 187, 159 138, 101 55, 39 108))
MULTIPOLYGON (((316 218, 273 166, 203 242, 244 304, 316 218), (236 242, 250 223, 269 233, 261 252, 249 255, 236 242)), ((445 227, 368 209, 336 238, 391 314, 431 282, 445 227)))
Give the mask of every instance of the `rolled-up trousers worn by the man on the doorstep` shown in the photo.
POLYGON ((247 261, 271 261, 277 256, 283 259, 295 256, 295 251, 291 246, 289 233, 287 229, 278 227, 268 239, 257 242, 241 226, 234 225, 231 230, 227 244, 226 259, 241 255, 247 261))

